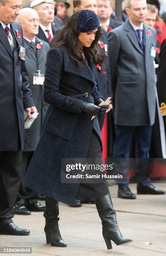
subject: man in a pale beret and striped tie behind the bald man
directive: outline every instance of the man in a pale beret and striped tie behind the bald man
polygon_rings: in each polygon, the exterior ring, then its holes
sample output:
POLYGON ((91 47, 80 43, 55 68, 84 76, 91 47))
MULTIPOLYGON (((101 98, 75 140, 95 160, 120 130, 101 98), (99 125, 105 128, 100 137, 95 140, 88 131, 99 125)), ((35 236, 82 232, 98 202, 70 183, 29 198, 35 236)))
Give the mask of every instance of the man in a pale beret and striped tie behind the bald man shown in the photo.
POLYGON ((52 24, 54 22, 54 0, 33 0, 30 7, 36 10, 39 16, 37 37, 50 44, 57 30, 52 24))

